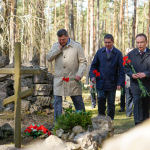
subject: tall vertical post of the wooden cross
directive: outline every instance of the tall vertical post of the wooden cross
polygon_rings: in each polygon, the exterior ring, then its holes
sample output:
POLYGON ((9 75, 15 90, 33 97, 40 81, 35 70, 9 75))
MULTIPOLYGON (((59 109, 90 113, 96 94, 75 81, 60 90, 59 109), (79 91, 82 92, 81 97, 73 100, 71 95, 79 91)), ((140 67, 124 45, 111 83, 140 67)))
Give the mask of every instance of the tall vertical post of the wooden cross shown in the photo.
POLYGON ((21 43, 15 43, 15 147, 21 147, 21 43))

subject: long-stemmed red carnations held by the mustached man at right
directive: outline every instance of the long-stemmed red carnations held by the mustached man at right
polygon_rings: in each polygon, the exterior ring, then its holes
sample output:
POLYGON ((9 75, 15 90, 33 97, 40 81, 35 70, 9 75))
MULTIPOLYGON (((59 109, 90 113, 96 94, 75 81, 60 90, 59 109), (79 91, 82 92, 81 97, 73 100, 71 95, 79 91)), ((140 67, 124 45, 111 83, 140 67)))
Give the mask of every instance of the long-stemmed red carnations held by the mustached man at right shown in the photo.
MULTIPOLYGON (((136 74, 136 71, 133 67, 133 65, 131 65, 131 60, 128 59, 128 56, 125 56, 123 57, 123 66, 126 65, 127 67, 129 67, 134 74, 136 74)), ((141 90, 141 96, 142 97, 146 97, 146 96, 149 96, 150 97, 150 94, 147 92, 145 86, 143 85, 142 81, 140 79, 137 79, 138 81, 138 84, 139 84, 139 88, 141 90)))

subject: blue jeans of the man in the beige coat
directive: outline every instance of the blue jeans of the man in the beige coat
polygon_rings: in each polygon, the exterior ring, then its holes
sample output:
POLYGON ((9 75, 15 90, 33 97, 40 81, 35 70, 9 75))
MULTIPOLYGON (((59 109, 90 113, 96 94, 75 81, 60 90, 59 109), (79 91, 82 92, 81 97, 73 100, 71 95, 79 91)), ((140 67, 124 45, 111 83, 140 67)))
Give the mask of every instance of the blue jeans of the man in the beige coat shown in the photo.
MULTIPOLYGON (((81 95, 71 96, 76 110, 84 110, 85 106, 81 95)), ((54 121, 62 114, 62 96, 54 96, 54 121)))

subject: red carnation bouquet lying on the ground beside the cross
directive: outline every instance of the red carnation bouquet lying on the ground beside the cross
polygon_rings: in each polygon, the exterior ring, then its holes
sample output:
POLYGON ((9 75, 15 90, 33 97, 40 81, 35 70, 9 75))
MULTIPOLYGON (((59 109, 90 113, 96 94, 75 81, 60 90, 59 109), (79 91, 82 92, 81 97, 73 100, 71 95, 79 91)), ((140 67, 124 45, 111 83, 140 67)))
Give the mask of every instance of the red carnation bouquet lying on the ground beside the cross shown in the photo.
POLYGON ((33 136, 33 138, 37 138, 40 135, 47 134, 48 136, 51 135, 51 132, 45 128, 43 125, 30 125, 24 131, 25 135, 33 136))

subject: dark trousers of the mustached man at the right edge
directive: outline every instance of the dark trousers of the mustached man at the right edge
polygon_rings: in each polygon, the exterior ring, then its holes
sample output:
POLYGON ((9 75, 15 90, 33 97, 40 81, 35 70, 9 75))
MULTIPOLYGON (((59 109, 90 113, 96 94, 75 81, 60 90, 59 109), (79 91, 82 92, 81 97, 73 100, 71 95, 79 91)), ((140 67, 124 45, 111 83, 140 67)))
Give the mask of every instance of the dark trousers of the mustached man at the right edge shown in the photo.
POLYGON ((149 101, 150 98, 142 98, 140 94, 132 93, 134 103, 134 122, 139 124, 149 118, 149 101))

